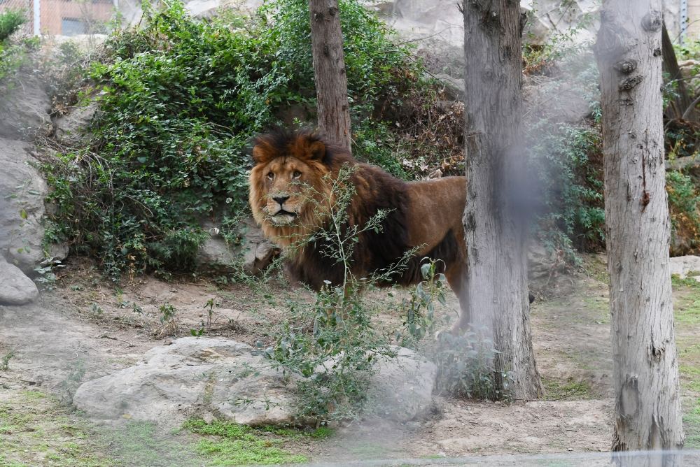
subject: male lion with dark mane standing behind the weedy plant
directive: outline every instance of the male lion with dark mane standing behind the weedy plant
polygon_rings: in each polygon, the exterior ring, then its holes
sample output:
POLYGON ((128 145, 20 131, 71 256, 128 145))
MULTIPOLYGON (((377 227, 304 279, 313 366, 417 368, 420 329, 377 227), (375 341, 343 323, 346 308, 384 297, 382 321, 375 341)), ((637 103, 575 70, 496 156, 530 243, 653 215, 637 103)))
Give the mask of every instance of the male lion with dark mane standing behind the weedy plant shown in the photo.
POLYGON ((328 204, 329 181, 337 179, 340 168, 349 164, 354 168, 350 175, 354 195, 346 222, 361 226, 377 211, 388 211, 379 231, 368 229, 358 235, 350 266, 353 275, 369 277, 417 247, 407 267, 393 275, 392 282, 416 284, 421 281, 421 260, 440 260, 440 272, 444 272, 462 310, 456 327, 468 323, 467 252, 462 227, 465 177, 404 182, 381 168, 358 162, 348 151, 309 131, 279 129, 258 136, 253 161, 249 197, 253 217, 265 236, 281 247, 302 244, 287 259, 296 280, 316 290, 324 281, 343 281, 344 266, 323 254, 322 240, 305 244, 304 240, 324 227, 327 218, 318 206, 323 206, 323 201, 328 204))

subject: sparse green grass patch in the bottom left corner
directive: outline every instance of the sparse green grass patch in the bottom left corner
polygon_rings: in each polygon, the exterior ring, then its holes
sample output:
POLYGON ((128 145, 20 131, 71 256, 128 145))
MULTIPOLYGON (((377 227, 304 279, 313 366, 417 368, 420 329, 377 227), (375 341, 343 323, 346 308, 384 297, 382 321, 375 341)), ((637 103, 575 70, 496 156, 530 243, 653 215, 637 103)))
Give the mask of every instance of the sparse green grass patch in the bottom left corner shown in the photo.
POLYGON ((107 443, 56 398, 40 391, 0 393, 0 466, 109 467, 107 443))

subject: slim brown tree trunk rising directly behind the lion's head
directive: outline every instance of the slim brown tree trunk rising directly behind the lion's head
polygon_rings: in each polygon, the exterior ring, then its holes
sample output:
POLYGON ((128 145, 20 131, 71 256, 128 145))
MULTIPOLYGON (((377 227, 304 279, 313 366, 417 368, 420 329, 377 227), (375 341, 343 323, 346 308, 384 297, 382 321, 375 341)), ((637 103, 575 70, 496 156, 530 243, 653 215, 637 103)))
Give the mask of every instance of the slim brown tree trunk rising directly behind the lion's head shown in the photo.
POLYGON ((318 129, 350 149, 350 106, 337 0, 309 0, 318 129))

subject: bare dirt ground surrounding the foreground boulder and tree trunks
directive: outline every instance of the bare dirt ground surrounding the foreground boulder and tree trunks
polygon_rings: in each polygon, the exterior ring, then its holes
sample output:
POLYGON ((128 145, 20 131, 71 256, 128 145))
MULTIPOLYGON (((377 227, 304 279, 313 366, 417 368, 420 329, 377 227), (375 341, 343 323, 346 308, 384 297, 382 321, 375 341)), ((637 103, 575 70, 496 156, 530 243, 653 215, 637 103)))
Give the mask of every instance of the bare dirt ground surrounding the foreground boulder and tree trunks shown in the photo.
MULTIPOLYGON (((311 462, 340 464, 608 451, 612 361, 604 261, 589 255, 580 271, 533 287, 533 343, 547 389, 541 400, 507 405, 436 396, 426 419, 351 424, 328 438, 290 440, 286 448, 311 462)), ((388 299, 375 292, 387 310, 384 324, 399 322, 402 294, 388 299)), ((698 448, 700 286, 674 280, 674 299, 687 447, 698 448)), ((448 306, 456 308, 454 297, 448 306)), ((151 347, 201 329, 207 336, 269 343, 284 313, 282 294, 247 285, 148 277, 114 287, 94 268, 69 263, 56 289, 38 303, 0 307, 0 466, 215 465, 195 453, 192 433, 97 426, 71 410, 71 394, 80 382, 131 366, 151 347), (176 330, 162 329, 167 305, 177 310, 176 330)), ((596 459, 607 465, 608 457, 596 459)), ((486 463, 518 464, 501 460, 486 463)))

